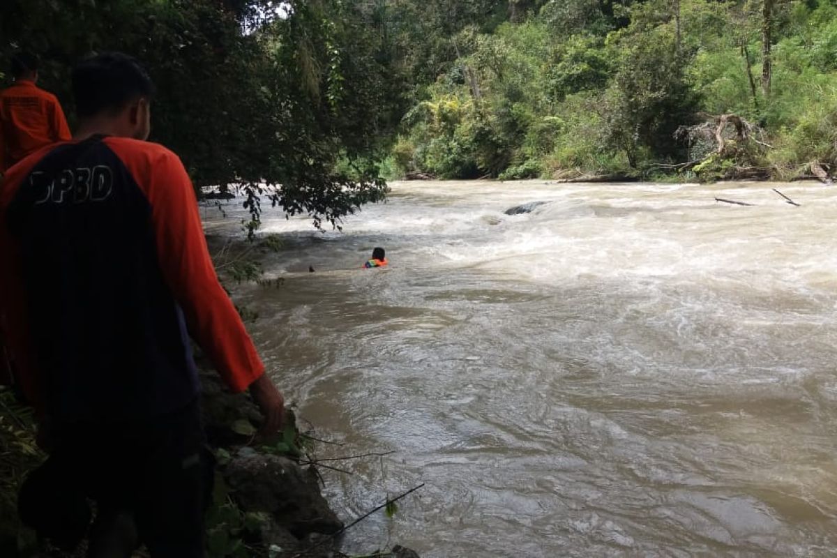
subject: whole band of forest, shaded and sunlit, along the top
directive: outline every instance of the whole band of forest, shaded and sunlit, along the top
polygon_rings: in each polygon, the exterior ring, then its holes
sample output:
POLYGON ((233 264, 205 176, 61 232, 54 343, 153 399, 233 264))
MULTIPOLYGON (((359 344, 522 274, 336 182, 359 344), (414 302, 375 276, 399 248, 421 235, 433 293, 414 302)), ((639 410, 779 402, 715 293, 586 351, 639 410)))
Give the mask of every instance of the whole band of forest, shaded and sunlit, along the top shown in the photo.
POLYGON ((8 0, 0 33, 70 114, 75 60, 135 55, 198 187, 318 225, 409 174, 837 170, 837 0, 8 0))

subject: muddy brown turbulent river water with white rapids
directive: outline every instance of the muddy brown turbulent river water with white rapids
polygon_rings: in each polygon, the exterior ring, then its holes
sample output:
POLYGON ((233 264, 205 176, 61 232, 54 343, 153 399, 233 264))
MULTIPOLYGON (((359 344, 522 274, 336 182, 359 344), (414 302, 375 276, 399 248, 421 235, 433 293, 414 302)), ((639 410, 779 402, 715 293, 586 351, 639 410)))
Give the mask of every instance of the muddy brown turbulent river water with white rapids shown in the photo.
POLYGON ((342 233, 267 216, 285 283, 237 299, 275 381, 346 444, 321 457, 396 452, 331 463, 338 513, 427 484, 344 550, 837 555, 837 190, 771 187, 396 183, 342 233))

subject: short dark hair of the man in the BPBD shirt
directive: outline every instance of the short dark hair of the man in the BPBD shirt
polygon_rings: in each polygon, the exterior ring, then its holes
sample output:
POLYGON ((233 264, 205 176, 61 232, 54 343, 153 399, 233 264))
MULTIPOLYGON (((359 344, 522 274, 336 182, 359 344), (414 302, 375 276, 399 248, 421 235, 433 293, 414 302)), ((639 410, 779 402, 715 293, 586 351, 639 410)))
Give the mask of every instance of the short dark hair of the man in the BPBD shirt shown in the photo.
POLYGON ((154 95, 154 83, 133 57, 122 53, 96 54, 73 69, 75 111, 85 116, 117 112, 140 97, 154 95))

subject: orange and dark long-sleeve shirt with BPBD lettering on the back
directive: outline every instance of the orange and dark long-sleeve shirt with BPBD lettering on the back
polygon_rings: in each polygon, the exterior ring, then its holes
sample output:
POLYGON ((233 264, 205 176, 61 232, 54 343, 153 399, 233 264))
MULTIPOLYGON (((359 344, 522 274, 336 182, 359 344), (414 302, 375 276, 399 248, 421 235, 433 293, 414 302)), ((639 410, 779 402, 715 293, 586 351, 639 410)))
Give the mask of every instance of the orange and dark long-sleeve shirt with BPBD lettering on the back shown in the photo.
POLYGON ((28 401, 56 420, 138 420, 198 393, 189 335, 234 391, 264 374, 218 283, 186 169, 94 136, 0 183, 0 329, 28 401))

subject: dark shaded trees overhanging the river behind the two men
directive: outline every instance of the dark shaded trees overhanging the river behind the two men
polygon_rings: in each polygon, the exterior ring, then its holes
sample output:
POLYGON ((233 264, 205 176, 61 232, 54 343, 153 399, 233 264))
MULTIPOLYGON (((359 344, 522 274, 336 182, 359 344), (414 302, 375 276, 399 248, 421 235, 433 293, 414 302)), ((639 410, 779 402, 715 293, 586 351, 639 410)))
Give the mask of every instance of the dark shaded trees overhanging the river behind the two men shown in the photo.
POLYGON ((340 0, 8 0, 0 59, 39 54, 41 84, 71 114, 76 60, 136 56, 158 88, 151 139, 197 187, 243 187, 251 227, 263 199, 319 226, 386 193, 375 161, 406 80, 378 28, 373 3, 340 0))

